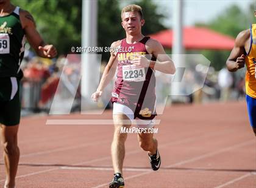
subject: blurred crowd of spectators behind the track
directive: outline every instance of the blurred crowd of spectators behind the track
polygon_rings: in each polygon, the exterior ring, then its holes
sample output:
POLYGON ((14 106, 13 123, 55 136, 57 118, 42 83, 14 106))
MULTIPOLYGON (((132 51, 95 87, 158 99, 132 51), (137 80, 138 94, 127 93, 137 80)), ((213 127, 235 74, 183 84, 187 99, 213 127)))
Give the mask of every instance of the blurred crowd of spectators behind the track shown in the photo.
MULTIPOLYGON (((73 56, 74 57, 74 56, 73 56)), ((73 112, 80 111, 80 90, 74 88, 74 82, 80 82, 80 56, 77 59, 66 58, 64 55, 57 59, 43 59, 37 56, 26 56, 23 61, 24 78, 21 80, 21 101, 23 115, 30 113, 49 112, 51 102, 57 91, 62 93, 62 98, 68 99, 75 94, 73 112), (62 82, 60 82, 62 76, 62 82), (66 95, 63 96, 63 95, 66 95)), ((199 64, 200 65, 200 64, 199 64)), ((196 79, 201 79, 200 66, 189 70, 185 74, 185 86, 189 89, 191 81, 196 82, 196 79)), ((105 62, 102 62, 101 74, 103 73, 105 62)), ((157 77, 157 96, 160 99, 165 99, 171 87, 168 79, 163 75, 157 77)), ((112 86, 108 86, 105 92, 111 92, 112 86)), ((214 67, 209 67, 207 77, 202 89, 196 92, 185 95, 184 104, 205 103, 215 101, 230 101, 244 100, 244 71, 238 73, 230 73, 226 67, 221 70, 216 70, 214 67)), ((108 100, 108 99, 102 99, 108 100)), ((106 102, 106 101, 105 101, 106 102)), ((162 101, 158 101, 162 102, 162 101)), ((111 102, 108 107, 111 107, 111 102)))

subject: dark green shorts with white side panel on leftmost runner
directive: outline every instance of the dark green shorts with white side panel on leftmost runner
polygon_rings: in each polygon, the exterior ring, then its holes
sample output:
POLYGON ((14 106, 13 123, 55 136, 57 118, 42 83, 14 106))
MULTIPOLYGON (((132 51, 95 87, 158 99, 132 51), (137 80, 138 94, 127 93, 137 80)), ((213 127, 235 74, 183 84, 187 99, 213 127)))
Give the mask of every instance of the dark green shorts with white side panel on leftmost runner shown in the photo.
POLYGON ((15 126, 20 124, 21 102, 20 82, 15 77, 0 78, 0 124, 15 126))

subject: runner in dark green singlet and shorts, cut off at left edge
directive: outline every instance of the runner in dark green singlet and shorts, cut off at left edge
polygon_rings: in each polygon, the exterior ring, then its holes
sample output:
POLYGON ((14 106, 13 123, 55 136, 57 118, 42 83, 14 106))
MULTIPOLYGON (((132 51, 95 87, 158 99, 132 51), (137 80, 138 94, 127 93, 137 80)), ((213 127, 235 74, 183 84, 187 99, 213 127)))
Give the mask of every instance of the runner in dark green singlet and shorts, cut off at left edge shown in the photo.
POLYGON ((39 56, 54 58, 57 55, 53 45, 44 43, 29 12, 12 5, 10 0, 0 0, 0 127, 5 188, 15 187, 20 158, 17 144, 21 112, 19 84, 23 77, 20 64, 26 38, 39 56))

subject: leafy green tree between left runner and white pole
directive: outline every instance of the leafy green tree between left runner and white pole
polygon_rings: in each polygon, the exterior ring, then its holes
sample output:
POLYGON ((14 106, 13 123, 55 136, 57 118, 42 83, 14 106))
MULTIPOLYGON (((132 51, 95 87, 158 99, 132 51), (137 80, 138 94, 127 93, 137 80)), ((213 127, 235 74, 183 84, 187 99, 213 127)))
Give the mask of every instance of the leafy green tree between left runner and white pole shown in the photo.
POLYGON ((46 42, 57 47, 59 54, 70 53, 71 46, 80 45, 82 1, 13 0, 12 3, 34 16, 38 31, 46 42))

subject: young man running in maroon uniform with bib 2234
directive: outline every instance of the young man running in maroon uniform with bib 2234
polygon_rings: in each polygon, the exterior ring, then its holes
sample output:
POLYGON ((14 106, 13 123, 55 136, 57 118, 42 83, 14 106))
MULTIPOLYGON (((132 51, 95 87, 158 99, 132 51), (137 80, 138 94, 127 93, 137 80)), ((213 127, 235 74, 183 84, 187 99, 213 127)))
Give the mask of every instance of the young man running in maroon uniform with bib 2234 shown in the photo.
MULTIPOLYGON (((117 71, 117 79, 112 92, 113 121, 115 132, 112 142, 112 161, 115 171, 109 187, 123 187, 124 143, 127 133, 121 133, 122 127, 129 128, 132 119, 143 119, 138 127, 154 127, 155 113, 155 70, 173 74, 174 63, 166 55, 162 45, 141 34, 144 25, 143 13, 138 5, 127 5, 121 12, 122 26, 126 38, 112 43, 112 52, 99 83, 91 98, 98 101, 99 96, 112 80, 117 71), (148 58, 146 58, 148 56, 148 58), (150 57, 152 56, 152 57, 150 57), (156 61, 157 58, 157 61, 156 61), (146 126, 145 126, 146 124, 146 126)), ((140 147, 147 151, 153 170, 158 170, 161 159, 157 150, 157 139, 153 133, 138 133, 140 147)))

